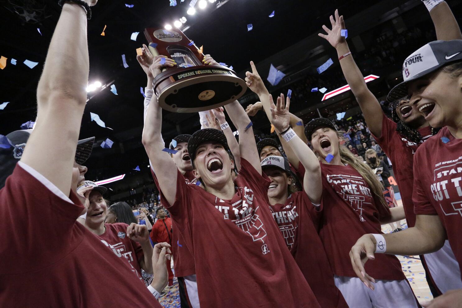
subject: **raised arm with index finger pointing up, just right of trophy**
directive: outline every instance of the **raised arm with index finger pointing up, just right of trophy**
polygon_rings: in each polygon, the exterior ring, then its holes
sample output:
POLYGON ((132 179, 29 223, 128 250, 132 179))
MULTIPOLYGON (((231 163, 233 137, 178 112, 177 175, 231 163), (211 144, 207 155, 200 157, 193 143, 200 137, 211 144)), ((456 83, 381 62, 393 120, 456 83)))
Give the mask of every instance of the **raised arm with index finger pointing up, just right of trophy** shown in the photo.
MULTIPOLYGON (((258 71, 255 67, 255 64, 253 61, 250 61, 250 66, 252 68, 252 72, 246 72, 245 73, 245 83, 247 86, 250 88, 250 90, 254 91, 256 95, 260 98, 259 104, 261 104, 263 110, 265 111, 268 120, 271 121, 271 104, 269 102, 269 92, 265 85, 263 84, 263 80, 261 80, 260 75, 258 74, 258 71)), ((251 106, 248 106, 247 109, 249 112, 255 112, 254 110, 250 110, 251 106)), ((290 126, 293 128, 293 131, 297 134, 298 138, 302 139, 304 143, 307 143, 306 136, 304 133, 304 126, 303 126, 303 121, 298 118, 295 115, 292 115, 289 113, 289 121, 290 121, 290 126), (299 123, 302 125, 297 125, 299 123)), ((289 162, 292 164, 294 168, 298 168, 298 164, 300 163, 300 160, 298 159, 297 155, 294 154, 292 151, 292 148, 287 145, 286 140, 281 137, 280 134, 278 134, 278 137, 281 141, 282 147, 284 148, 284 151, 286 152, 287 159, 289 162)))

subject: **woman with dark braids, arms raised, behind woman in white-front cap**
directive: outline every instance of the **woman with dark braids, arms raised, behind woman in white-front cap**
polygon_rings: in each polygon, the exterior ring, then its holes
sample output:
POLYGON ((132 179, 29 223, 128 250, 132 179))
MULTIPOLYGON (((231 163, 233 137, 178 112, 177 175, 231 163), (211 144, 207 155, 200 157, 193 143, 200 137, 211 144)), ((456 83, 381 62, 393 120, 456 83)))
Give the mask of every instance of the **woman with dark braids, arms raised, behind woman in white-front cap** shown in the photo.
MULTIPOLYGON (((431 9, 430 15, 435 24, 437 38, 440 40, 462 38, 457 21, 449 6, 440 0, 427 2, 432 2, 433 5, 429 10, 431 9)), ((327 35, 319 34, 319 36, 325 38, 337 50, 343 74, 361 107, 367 125, 377 143, 393 163, 394 175, 406 213, 407 226, 413 227, 416 219, 412 200, 413 156, 418 147, 436 134, 438 129, 433 128, 419 113, 416 104, 409 101, 407 92, 389 96, 393 108, 393 119, 389 119, 383 113, 377 98, 367 88, 363 74, 354 61, 348 43, 345 37, 341 36, 341 30, 345 29, 343 16, 339 17, 336 11, 335 18, 331 16, 331 24, 331 30, 323 26, 327 35)), ((419 60, 417 57, 411 59, 410 67, 419 65, 419 60)), ((407 78, 407 72, 406 69, 403 69, 404 79, 407 78)), ((458 264, 448 241, 445 242, 441 250, 421 256, 421 259, 426 265, 426 272, 431 273, 431 275, 427 274, 426 277, 434 296, 447 290, 462 288, 462 282, 458 279, 460 277, 458 264), (435 285, 439 290, 434 290, 432 285, 435 285)))

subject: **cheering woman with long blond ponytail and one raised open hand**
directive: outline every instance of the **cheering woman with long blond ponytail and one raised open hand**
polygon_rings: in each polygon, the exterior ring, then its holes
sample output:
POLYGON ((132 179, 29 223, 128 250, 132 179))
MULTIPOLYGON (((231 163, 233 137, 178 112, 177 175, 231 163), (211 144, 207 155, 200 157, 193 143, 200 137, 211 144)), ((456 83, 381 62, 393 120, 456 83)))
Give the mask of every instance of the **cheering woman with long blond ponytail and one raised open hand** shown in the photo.
MULTIPOLYGON (((286 120, 289 99, 284 108, 284 95, 281 94, 277 106, 272 106, 274 127, 302 160, 307 156, 305 145, 286 120)), ((349 245, 356 241, 357 236, 369 233, 369 230, 381 233, 381 223, 402 219, 390 213, 376 176, 344 145, 340 145, 343 134, 337 132, 328 119, 310 121, 305 127, 305 134, 320 160, 312 155, 310 163, 320 166, 321 172, 316 175, 311 174, 312 169, 299 171, 304 174, 305 192, 310 200, 316 203, 309 189, 312 193, 322 194, 321 198, 318 197, 322 204, 316 208, 319 236, 334 272, 335 285, 346 302, 350 307, 418 307, 401 270, 401 263, 395 256, 382 255, 374 266, 368 268, 377 278, 373 292, 356 277, 348 258, 349 245), (393 295, 390 296, 390 293, 393 295)), ((299 169, 306 164, 301 164, 299 169)))

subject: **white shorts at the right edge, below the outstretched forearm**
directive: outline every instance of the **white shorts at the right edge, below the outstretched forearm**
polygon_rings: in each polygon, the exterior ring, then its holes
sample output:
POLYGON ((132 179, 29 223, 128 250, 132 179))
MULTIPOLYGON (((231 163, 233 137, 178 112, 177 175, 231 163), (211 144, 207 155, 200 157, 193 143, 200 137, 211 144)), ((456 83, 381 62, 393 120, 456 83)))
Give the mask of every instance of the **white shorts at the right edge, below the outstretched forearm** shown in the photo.
POLYGON ((459 262, 457 262, 448 240, 444 242, 444 246, 440 250, 431 254, 424 254, 424 259, 433 282, 441 293, 462 289, 459 262))

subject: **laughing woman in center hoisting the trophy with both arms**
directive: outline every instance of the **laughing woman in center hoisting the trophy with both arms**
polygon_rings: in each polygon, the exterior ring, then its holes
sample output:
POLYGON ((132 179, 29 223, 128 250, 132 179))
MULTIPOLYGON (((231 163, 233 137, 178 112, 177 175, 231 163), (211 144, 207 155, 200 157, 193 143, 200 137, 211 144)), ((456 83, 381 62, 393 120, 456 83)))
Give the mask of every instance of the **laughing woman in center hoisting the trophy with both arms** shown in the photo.
POLYGON ((186 184, 162 151, 162 112, 155 97, 143 130, 162 204, 194 254, 200 305, 320 307, 267 206, 269 181, 261 174, 252 123, 237 101, 225 109, 239 131, 241 169, 234 182, 234 163, 220 131, 202 129, 188 141, 204 189, 186 184))

